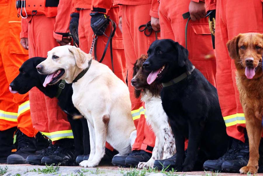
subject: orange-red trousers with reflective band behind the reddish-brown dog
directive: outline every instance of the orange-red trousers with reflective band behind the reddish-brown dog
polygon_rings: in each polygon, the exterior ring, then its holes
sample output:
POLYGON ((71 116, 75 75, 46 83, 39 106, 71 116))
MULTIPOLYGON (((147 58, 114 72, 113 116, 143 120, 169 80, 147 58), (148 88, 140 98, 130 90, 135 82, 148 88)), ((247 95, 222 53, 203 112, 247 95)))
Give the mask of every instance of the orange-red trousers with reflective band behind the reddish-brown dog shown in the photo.
POLYGON ((217 92, 227 134, 245 141, 245 115, 236 87, 236 67, 229 57, 226 42, 239 33, 263 33, 262 1, 217 0, 215 26, 217 92))

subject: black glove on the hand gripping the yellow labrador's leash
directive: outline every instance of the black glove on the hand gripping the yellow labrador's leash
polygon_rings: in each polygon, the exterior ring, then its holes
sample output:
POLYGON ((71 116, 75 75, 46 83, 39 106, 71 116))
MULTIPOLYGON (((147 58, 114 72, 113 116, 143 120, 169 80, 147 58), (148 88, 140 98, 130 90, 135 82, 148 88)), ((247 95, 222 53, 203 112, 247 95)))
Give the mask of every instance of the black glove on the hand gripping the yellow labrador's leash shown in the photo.
POLYGON ((103 13, 90 13, 90 26, 96 35, 103 35, 109 25, 109 18, 103 13))

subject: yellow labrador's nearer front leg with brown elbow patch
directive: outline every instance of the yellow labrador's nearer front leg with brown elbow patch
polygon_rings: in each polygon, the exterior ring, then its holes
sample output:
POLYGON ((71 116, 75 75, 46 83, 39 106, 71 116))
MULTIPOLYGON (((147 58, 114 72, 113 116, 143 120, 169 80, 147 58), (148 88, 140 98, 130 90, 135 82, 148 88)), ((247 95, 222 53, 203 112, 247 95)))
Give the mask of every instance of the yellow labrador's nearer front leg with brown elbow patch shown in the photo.
POLYGON ((97 166, 105 154, 107 125, 110 120, 109 115, 103 115, 101 118, 93 118, 95 131, 95 155, 92 160, 82 161, 79 165, 83 167, 97 166))

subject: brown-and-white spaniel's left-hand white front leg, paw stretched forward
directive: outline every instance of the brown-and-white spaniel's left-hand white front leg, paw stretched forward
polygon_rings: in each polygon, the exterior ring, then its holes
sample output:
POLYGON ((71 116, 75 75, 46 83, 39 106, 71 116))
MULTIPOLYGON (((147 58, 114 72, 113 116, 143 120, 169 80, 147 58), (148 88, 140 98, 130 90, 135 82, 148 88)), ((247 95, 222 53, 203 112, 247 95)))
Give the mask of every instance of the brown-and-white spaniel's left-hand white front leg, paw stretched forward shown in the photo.
POLYGON ((162 159, 163 153, 163 142, 158 139, 158 136, 155 138, 155 145, 153 148, 152 157, 147 162, 139 162, 138 168, 152 168, 155 160, 162 159))

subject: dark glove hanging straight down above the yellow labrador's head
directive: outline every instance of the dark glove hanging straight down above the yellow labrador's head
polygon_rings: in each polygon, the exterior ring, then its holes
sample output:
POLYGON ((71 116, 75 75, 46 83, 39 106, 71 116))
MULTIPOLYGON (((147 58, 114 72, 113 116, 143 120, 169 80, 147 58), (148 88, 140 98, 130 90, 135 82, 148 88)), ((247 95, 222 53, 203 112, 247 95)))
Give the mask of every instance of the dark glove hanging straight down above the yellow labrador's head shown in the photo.
POLYGON ((79 34, 78 34, 78 26, 79 26, 79 13, 72 13, 70 14, 71 20, 70 20, 70 34, 72 35, 72 38, 74 42, 79 45, 79 34))

